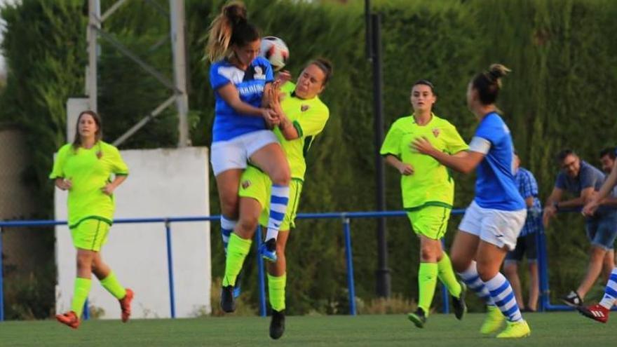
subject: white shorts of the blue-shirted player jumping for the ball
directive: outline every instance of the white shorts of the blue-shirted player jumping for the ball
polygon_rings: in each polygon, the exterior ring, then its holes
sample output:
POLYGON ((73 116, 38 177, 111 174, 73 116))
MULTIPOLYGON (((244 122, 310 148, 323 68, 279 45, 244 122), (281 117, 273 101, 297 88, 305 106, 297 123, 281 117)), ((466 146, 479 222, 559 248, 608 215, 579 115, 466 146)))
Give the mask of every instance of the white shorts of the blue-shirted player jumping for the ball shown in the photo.
POLYGON ((210 147, 210 163, 215 176, 226 170, 246 168, 250 156, 271 143, 278 143, 278 140, 270 130, 249 132, 231 140, 213 142, 210 147))

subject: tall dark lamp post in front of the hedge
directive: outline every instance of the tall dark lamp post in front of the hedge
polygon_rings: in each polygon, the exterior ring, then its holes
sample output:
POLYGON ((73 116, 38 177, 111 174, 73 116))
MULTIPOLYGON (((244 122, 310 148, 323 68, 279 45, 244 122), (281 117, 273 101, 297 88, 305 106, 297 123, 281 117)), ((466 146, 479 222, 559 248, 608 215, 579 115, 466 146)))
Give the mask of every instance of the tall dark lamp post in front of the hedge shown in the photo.
MULTIPOLYGON (((384 160, 379 154, 384 141, 383 76, 381 74, 381 15, 372 14, 373 48, 373 103, 375 133, 375 170, 377 172, 377 210, 386 210, 386 178, 384 160)), ((386 242, 386 219, 377 219, 377 295, 390 297, 390 269, 388 268, 388 243, 386 242)))

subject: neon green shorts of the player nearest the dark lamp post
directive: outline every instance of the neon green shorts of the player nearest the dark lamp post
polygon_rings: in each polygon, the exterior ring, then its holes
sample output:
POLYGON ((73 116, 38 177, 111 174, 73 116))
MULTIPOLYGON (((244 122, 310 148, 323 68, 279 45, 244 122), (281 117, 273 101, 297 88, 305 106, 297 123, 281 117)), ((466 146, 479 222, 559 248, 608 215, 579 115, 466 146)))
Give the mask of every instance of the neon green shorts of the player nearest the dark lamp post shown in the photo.
POLYGON ((407 217, 412 222, 415 233, 433 240, 440 240, 446 233, 451 211, 449 207, 424 206, 417 210, 407 211, 407 217))

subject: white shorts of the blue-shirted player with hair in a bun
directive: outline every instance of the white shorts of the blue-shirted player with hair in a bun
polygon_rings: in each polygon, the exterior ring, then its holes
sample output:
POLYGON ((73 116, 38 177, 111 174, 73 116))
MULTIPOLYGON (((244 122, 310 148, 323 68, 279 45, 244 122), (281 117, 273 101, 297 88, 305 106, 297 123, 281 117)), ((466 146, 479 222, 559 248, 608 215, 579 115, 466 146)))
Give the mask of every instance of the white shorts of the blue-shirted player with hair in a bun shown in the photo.
POLYGON ((465 211, 459 230, 499 248, 506 246, 508 250, 514 250, 526 217, 527 210, 494 210, 480 207, 473 201, 465 211))

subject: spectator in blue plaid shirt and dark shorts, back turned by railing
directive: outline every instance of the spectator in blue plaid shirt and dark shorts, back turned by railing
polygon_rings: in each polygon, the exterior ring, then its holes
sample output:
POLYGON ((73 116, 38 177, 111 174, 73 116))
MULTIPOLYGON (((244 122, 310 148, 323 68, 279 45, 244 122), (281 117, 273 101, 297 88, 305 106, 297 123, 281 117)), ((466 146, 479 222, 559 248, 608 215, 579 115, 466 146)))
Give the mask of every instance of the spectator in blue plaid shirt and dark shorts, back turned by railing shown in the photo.
POLYGON ((538 183, 534 174, 520 167, 518 154, 514 155, 515 184, 527 205, 527 219, 517 240, 516 248, 508 252, 506 261, 503 263, 503 273, 512 284, 516 302, 522 311, 534 312, 538 305, 539 282, 538 282, 538 252, 536 247, 536 234, 542 232, 542 206, 538 200, 538 183), (518 262, 522 261, 523 255, 527 255, 529 263, 529 301, 525 306, 523 301, 520 278, 518 277, 518 262))

